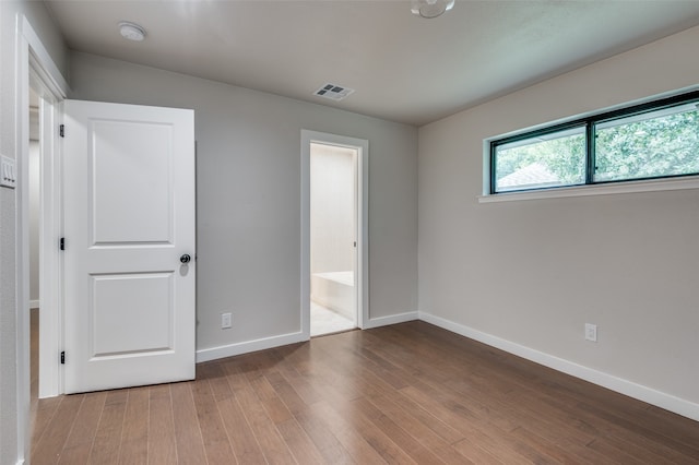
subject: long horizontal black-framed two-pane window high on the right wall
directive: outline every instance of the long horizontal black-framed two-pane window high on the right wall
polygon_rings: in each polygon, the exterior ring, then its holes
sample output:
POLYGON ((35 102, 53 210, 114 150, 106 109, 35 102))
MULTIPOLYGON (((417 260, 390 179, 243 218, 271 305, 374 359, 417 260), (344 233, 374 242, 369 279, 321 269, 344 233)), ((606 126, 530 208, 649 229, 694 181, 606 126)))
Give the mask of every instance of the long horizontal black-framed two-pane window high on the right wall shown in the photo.
POLYGON ((699 174, 699 91, 490 142, 490 193, 699 174))

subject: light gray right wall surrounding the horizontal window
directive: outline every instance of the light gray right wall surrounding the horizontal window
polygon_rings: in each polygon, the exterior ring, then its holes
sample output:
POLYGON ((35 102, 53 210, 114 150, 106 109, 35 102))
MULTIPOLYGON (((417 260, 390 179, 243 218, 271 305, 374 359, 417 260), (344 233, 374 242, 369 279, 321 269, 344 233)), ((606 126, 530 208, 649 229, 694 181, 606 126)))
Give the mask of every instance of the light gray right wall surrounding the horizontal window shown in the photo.
POLYGON ((697 44, 699 27, 420 128, 422 317, 698 415, 699 190, 477 202, 484 139, 696 85, 697 44))

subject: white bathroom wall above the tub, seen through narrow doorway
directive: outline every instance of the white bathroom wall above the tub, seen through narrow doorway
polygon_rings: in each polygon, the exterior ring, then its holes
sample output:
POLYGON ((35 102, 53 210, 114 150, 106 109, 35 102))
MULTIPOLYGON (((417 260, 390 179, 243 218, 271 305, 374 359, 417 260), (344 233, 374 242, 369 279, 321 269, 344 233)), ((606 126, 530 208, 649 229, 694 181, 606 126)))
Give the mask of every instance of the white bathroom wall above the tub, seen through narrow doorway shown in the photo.
POLYGON ((353 148, 311 144, 311 274, 354 271, 355 152, 353 148))

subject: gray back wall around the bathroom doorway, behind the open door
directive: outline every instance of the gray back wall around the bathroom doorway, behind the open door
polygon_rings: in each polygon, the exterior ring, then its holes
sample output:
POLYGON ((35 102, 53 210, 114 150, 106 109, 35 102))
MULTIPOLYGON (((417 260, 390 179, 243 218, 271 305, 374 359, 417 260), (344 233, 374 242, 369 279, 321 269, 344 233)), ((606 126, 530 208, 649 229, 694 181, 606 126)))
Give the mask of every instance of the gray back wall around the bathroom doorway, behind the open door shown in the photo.
POLYGON ((369 140, 370 318, 417 310, 417 129, 90 55, 71 65, 70 98, 196 110, 198 349, 300 331, 301 129, 369 140))

